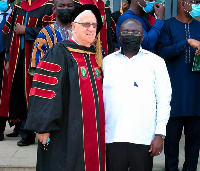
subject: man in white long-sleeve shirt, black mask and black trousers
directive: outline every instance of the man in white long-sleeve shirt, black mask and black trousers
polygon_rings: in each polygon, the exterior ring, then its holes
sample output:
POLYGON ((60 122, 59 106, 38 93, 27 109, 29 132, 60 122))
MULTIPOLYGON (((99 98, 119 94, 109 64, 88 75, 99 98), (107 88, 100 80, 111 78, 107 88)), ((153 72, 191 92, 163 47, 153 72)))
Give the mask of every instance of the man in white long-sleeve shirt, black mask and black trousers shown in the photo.
POLYGON ((108 171, 150 171, 163 150, 171 84, 165 62, 141 48, 143 28, 135 19, 120 28, 120 51, 103 60, 108 171))

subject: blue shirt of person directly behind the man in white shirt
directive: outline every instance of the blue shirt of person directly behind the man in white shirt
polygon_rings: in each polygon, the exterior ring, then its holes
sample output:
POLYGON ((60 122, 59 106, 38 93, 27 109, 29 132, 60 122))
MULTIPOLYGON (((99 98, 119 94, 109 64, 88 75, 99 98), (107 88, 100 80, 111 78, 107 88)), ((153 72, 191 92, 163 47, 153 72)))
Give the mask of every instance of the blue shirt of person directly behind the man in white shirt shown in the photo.
POLYGON ((145 17, 138 16, 131 10, 127 10, 126 12, 124 12, 118 19, 116 26, 118 46, 121 47, 121 43, 119 41, 120 27, 124 21, 131 18, 138 20, 143 26, 144 39, 142 41, 142 48, 155 53, 155 45, 158 41, 160 30, 163 27, 164 21, 157 19, 154 25, 151 26, 145 17))

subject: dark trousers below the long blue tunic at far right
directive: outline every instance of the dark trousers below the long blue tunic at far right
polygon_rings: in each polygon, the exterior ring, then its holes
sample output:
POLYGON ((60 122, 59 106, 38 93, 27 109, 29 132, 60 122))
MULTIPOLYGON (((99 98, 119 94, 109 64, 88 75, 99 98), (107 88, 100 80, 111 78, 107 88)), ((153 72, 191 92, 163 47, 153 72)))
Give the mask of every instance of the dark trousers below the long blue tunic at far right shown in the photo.
POLYGON ((184 127, 185 162, 183 171, 196 171, 200 149, 200 116, 174 117, 167 124, 164 143, 165 169, 177 171, 179 162, 179 141, 184 127))

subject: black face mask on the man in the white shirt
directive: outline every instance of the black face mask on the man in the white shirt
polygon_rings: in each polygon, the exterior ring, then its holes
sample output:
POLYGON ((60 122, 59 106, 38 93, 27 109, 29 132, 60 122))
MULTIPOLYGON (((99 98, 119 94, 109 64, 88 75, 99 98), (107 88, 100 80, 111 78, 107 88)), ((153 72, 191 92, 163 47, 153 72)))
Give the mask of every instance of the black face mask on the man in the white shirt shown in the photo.
POLYGON ((122 36, 122 49, 126 52, 134 52, 140 49, 142 36, 126 35, 122 36))

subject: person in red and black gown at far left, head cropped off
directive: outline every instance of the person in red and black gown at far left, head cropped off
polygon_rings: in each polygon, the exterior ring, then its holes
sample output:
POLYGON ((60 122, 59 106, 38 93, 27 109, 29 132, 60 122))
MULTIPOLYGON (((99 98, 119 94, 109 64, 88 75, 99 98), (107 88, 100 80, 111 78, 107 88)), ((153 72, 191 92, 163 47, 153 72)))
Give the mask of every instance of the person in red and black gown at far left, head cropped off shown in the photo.
POLYGON ((7 86, 4 84, 1 94, 0 115, 9 119, 10 125, 21 121, 18 146, 35 143, 35 134, 23 129, 27 117, 28 94, 32 76, 29 69, 33 43, 42 27, 54 19, 52 2, 47 0, 21 1, 14 5, 11 15, 3 27, 2 38, 5 49, 10 53, 7 86))

